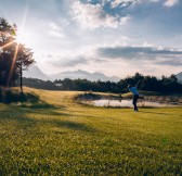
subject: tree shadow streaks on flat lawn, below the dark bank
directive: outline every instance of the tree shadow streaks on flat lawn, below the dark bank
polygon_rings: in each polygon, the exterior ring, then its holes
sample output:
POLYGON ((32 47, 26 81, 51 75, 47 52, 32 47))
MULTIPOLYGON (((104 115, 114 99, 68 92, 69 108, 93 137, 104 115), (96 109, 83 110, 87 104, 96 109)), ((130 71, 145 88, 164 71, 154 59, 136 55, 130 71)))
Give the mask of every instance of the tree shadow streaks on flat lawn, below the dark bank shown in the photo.
MULTIPOLYGON (((58 111, 62 111, 58 110, 58 111)), ((80 130, 87 133, 95 133, 96 129, 88 126, 87 124, 79 123, 73 120, 65 120, 65 117, 74 117, 77 115, 68 114, 66 112, 58 112, 56 109, 22 109, 11 106, 0 112, 0 121, 12 121, 14 127, 20 128, 37 128, 41 126, 67 128, 70 130, 80 130), (32 117, 31 117, 32 116, 32 117)))

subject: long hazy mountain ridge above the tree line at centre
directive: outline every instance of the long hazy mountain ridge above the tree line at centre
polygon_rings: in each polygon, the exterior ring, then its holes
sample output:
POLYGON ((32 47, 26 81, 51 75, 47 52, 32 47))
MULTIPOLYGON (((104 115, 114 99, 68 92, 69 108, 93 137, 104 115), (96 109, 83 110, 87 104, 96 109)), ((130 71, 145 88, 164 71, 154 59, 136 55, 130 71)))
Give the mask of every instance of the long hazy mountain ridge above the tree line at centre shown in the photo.
POLYGON ((116 76, 108 77, 100 72, 91 74, 89 72, 80 71, 80 70, 73 71, 73 72, 62 72, 58 74, 50 75, 50 77, 52 79, 64 79, 64 78, 77 79, 77 78, 80 78, 80 79, 88 79, 91 81, 99 80, 99 79, 102 81, 106 81, 106 80, 118 81, 118 80, 120 80, 120 78, 116 77, 116 76))

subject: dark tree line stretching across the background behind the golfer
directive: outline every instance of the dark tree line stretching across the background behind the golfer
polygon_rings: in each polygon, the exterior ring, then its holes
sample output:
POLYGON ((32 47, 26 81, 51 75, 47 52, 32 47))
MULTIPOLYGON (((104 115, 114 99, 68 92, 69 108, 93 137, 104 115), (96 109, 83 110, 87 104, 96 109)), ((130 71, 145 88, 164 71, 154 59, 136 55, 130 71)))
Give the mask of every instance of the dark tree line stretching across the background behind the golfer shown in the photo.
MULTIPOLYGON (((141 80, 138 88, 143 91, 155 91, 161 93, 182 93, 182 83, 178 80, 176 75, 169 77, 161 76, 144 76, 135 73, 133 76, 128 76, 120 79, 118 83, 113 81, 91 81, 87 79, 56 79, 55 81, 41 80, 35 78, 24 78, 24 86, 48 89, 48 90, 76 90, 76 91, 99 91, 99 92, 128 92, 128 85, 134 86, 141 80)), ((18 84, 18 83, 17 83, 18 84)))

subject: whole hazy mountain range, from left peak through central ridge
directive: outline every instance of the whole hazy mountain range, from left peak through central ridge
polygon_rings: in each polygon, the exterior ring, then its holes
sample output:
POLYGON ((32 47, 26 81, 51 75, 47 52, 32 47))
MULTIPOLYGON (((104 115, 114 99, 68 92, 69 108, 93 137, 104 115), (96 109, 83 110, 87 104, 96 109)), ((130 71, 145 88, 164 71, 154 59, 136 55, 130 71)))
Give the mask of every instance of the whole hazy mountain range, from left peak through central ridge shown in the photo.
POLYGON ((95 80, 110 80, 110 81, 119 81, 120 78, 117 76, 108 77, 104 75, 103 73, 96 72, 96 73, 89 73, 86 71, 68 71, 68 72, 61 72, 58 74, 52 74, 47 75, 44 74, 37 65, 31 65, 27 71, 24 71, 24 77, 31 77, 31 78, 38 78, 42 80, 55 80, 55 79, 64 79, 64 78, 70 78, 70 79, 88 79, 91 81, 95 80))

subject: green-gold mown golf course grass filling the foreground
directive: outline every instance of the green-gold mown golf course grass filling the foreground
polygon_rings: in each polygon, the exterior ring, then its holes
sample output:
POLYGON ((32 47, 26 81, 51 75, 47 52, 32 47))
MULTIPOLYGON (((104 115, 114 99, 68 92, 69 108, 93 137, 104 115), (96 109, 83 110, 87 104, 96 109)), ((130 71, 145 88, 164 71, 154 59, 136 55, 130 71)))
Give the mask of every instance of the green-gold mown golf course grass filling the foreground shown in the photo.
POLYGON ((135 113, 31 91, 52 106, 0 104, 0 175, 182 174, 181 108, 135 113))

